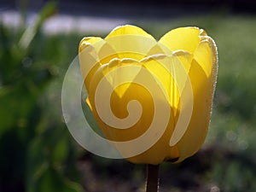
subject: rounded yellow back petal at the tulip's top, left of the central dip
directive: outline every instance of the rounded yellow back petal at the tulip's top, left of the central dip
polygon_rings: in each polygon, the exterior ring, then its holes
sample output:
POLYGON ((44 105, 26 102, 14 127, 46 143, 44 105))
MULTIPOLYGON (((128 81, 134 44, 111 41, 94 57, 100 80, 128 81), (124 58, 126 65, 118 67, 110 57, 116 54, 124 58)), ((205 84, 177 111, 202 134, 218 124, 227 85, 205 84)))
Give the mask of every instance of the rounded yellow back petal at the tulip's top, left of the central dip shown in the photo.
POLYGON ((119 58, 140 60, 154 47, 155 39, 137 26, 119 26, 105 38, 119 58))

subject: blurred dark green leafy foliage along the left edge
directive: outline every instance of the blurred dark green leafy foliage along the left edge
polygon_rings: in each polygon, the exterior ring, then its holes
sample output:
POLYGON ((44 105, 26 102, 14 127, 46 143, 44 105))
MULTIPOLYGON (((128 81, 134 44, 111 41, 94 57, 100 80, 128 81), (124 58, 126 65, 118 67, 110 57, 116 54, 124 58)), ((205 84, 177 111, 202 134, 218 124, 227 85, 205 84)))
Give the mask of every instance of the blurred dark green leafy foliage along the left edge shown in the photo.
POLYGON ((49 90, 72 57, 40 30, 55 10, 46 4, 28 28, 0 23, 0 191, 82 191, 59 93, 49 90))

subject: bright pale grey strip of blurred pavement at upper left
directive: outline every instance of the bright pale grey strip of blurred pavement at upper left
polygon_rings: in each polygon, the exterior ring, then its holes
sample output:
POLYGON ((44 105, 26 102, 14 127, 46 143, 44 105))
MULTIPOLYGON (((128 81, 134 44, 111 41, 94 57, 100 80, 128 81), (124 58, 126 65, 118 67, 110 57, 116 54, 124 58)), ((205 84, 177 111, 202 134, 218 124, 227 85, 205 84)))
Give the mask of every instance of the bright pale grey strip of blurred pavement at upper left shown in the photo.
MULTIPOLYGON (((29 12, 26 25, 30 26, 37 17, 36 12, 29 12)), ((15 10, 0 11, 0 20, 4 25, 18 27, 20 25, 20 14, 15 10)), ((86 15, 56 14, 45 21, 43 32, 55 33, 92 33, 110 32, 115 26, 129 23, 126 19, 105 18, 86 15)))

